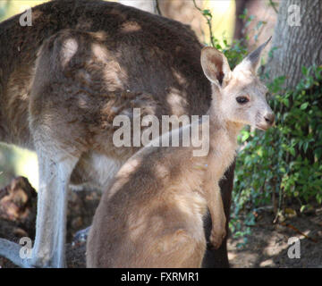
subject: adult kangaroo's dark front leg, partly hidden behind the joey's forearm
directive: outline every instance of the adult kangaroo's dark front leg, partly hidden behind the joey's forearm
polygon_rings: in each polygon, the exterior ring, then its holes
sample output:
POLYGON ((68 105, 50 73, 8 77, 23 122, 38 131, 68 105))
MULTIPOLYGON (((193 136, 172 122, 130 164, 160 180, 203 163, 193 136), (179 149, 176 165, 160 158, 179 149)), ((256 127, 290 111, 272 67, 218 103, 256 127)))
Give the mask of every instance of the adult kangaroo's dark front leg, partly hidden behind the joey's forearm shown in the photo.
POLYGON ((229 231, 229 219, 230 219, 230 207, 232 200, 233 191, 233 172, 234 172, 235 162, 229 167, 225 172, 225 179, 221 180, 219 183, 221 194, 224 203, 225 217, 226 217, 226 236, 223 240, 220 248, 212 248, 209 243, 210 231, 212 228, 212 222, 210 214, 208 214, 205 220, 205 233, 207 239, 207 251, 202 262, 202 267, 205 268, 218 268, 218 267, 229 267, 228 253, 227 253, 227 239, 229 231))

